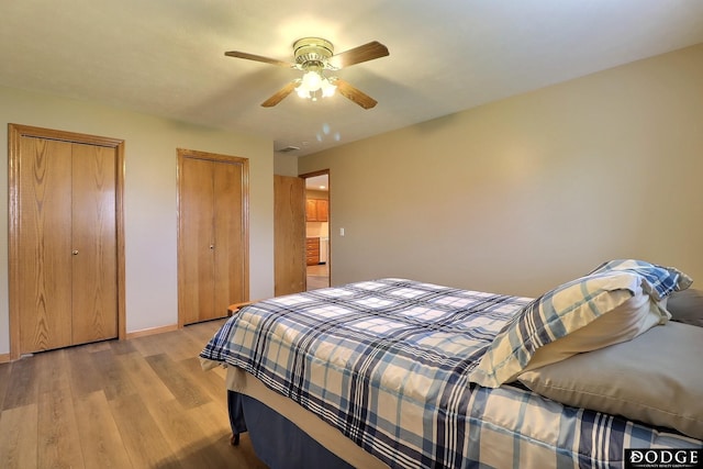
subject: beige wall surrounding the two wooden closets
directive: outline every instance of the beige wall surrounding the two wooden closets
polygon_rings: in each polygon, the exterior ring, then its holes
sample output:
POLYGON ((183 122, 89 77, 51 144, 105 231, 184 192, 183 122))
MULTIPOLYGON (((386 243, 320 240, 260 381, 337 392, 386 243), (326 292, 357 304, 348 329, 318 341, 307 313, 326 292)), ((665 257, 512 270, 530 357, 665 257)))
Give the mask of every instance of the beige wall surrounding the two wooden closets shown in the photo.
POLYGON ((260 137, 0 87, 0 355, 9 351, 8 123, 125 141, 127 332, 177 323, 176 148, 249 158, 250 298, 274 293, 274 147, 260 137))

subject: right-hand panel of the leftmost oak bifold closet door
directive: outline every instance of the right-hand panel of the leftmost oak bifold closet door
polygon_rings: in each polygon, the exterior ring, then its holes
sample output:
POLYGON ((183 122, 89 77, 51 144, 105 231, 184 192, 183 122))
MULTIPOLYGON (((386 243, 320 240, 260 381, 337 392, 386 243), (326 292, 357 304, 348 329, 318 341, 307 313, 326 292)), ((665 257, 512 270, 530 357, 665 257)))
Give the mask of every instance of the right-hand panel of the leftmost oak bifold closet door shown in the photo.
POLYGON ((72 342, 118 336, 115 152, 74 144, 72 342))

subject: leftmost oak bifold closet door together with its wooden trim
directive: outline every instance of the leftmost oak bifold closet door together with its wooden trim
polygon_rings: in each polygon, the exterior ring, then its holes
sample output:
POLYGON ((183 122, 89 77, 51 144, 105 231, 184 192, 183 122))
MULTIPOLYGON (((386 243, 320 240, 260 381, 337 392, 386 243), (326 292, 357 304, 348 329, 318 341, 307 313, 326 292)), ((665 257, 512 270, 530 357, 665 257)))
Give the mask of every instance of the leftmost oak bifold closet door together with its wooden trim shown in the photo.
POLYGON ((124 338, 124 142, 19 124, 8 130, 10 358, 124 338), (81 152, 93 165, 82 182, 85 158, 74 159, 81 152), (83 193, 88 205, 74 204, 83 193), (93 271, 74 273, 74 238, 88 246, 78 249, 93 271), (100 314, 83 320, 85 311, 100 314))

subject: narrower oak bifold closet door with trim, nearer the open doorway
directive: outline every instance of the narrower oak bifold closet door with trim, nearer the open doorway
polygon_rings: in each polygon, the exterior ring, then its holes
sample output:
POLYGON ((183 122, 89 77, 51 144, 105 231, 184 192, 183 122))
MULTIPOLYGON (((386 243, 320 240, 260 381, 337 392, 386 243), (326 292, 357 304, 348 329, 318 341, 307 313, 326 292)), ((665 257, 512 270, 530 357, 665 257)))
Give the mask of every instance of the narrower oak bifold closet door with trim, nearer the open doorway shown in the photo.
POLYGON ((178 150, 179 325, 223 317, 248 299, 248 163, 178 150))

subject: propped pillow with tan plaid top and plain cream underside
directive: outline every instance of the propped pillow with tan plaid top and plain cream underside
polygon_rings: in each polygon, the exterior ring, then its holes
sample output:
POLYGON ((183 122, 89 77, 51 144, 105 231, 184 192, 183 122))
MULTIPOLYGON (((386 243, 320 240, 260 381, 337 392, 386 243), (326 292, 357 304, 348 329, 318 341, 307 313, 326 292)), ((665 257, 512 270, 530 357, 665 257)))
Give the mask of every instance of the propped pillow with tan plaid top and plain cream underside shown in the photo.
POLYGON ((498 388, 526 369, 627 340, 666 321, 641 286, 637 273, 609 270, 548 291, 501 330, 469 380, 498 388))

